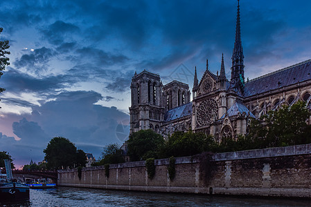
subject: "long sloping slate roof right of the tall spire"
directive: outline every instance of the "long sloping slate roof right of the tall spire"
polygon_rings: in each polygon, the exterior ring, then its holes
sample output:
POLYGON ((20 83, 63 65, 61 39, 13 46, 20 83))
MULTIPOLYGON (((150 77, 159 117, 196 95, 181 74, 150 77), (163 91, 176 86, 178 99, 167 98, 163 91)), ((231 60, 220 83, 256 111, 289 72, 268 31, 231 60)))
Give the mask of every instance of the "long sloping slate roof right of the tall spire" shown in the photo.
POLYGON ((245 83, 245 97, 290 86, 311 79, 311 59, 297 63, 245 83))

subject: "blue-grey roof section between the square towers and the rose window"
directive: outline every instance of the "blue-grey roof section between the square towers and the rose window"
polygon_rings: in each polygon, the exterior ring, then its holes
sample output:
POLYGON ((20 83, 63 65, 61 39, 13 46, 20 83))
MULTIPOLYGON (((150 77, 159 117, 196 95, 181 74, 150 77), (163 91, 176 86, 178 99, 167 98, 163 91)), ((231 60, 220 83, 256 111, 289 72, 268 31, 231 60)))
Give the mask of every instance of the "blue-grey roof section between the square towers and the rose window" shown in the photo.
POLYGON ((164 115, 164 122, 186 117, 188 115, 191 115, 192 111, 193 102, 189 102, 176 108, 172 108, 168 110, 164 115))

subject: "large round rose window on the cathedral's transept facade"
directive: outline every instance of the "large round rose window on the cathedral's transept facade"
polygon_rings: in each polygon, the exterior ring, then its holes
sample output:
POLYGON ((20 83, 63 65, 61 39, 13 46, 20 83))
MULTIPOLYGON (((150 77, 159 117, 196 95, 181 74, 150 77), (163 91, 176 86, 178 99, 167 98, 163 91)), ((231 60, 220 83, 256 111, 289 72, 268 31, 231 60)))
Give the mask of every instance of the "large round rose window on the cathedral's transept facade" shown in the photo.
POLYGON ((218 105, 214 99, 206 99, 197 107, 197 124, 206 126, 211 124, 218 115, 218 105))

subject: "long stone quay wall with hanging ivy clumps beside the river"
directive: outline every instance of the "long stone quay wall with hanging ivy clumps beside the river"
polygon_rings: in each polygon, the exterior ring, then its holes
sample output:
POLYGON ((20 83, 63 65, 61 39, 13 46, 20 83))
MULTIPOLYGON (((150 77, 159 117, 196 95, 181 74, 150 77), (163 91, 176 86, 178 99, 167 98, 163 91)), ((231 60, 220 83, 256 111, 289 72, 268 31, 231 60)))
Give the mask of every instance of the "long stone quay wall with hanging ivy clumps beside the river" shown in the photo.
POLYGON ((175 178, 169 159, 155 160, 148 178, 145 161, 59 170, 58 186, 169 193, 311 197, 311 144, 176 158, 175 178))

